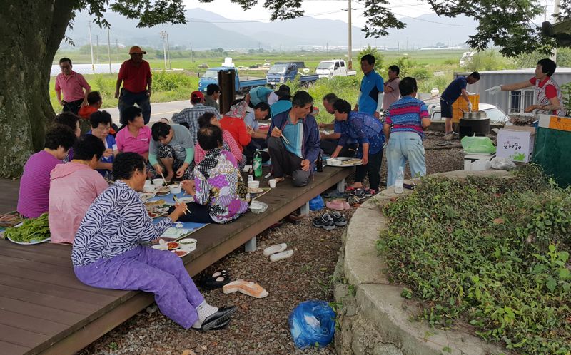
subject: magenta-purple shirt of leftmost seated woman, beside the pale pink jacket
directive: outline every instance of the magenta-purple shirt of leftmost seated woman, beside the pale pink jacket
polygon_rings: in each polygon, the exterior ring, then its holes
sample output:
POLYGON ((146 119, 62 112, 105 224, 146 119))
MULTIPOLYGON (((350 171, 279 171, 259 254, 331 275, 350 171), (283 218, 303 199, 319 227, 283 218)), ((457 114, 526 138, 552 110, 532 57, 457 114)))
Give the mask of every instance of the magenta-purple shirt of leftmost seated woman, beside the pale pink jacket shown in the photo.
POLYGON ((56 165, 63 163, 45 150, 31 155, 24 165, 24 174, 20 180, 17 208, 20 215, 36 218, 48 212, 49 174, 56 165))

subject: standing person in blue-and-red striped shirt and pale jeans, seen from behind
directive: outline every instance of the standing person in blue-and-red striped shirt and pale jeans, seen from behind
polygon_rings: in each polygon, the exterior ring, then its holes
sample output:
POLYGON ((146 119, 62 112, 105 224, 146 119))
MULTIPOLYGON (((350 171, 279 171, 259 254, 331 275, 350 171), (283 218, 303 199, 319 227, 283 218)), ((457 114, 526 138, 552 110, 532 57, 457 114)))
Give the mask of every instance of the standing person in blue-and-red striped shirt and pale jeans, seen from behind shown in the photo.
POLYGON ((426 175, 423 130, 430 125, 430 115, 423 101, 416 97, 415 78, 406 77, 398 84, 400 100, 389 106, 383 130, 387 144, 387 187, 395 185, 399 168, 408 160, 410 176, 426 175))

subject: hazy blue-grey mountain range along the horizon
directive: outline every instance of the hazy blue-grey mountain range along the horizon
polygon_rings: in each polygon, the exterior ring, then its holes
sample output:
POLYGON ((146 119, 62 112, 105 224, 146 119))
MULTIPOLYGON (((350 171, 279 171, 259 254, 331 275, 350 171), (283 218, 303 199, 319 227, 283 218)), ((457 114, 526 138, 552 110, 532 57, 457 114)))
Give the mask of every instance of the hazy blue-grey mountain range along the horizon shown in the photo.
MULTIPOLYGON (((136 28, 137 21, 126 19, 120 14, 108 12, 106 19, 111 24, 111 43, 116 41, 124 46, 138 44, 161 48, 161 26, 151 29, 136 28)), ((347 46, 347 24, 339 20, 314 19, 302 17, 275 22, 246 22, 226 19, 223 16, 203 9, 187 10, 188 24, 164 26, 168 32, 169 44, 185 46, 191 43, 193 49, 295 49, 300 46, 347 46)), ((66 36, 76 46, 89 43, 89 23, 92 18, 78 13, 74 29, 68 29, 66 36)), ((353 47, 385 46, 388 48, 418 48, 445 43, 448 46, 464 43, 470 34, 475 33, 475 22, 465 17, 442 19, 435 14, 427 14, 416 19, 403 18, 407 28, 390 31, 390 36, 383 38, 365 38, 360 28, 353 26, 353 47)), ((92 40, 104 46, 107 42, 107 31, 91 24, 92 40)), ((62 44, 65 46, 65 44, 62 44)))

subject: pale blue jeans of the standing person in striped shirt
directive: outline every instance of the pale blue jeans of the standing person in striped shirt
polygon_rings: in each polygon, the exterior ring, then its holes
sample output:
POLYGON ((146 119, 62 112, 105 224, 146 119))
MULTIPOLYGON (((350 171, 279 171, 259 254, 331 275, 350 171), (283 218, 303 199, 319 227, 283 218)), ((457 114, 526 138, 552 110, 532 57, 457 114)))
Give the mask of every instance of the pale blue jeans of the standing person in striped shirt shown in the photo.
POLYGON ((401 166, 405 168, 407 160, 410 176, 418 178, 426 175, 423 139, 418 133, 390 133, 386 150, 387 187, 395 185, 398 168, 401 166))

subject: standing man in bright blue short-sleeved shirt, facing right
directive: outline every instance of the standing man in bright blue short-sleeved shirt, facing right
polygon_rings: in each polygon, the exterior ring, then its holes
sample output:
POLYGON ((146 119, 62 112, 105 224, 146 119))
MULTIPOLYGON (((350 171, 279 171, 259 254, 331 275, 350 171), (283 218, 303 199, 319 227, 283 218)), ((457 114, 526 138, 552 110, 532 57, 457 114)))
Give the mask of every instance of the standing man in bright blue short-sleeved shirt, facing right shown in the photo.
POLYGON ((380 110, 383 108, 385 89, 383 77, 375 71, 375 57, 373 55, 365 54, 361 58, 361 70, 365 75, 361 81, 359 97, 353 110, 379 118, 380 110))

